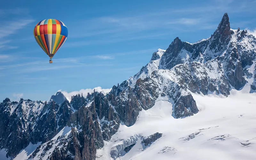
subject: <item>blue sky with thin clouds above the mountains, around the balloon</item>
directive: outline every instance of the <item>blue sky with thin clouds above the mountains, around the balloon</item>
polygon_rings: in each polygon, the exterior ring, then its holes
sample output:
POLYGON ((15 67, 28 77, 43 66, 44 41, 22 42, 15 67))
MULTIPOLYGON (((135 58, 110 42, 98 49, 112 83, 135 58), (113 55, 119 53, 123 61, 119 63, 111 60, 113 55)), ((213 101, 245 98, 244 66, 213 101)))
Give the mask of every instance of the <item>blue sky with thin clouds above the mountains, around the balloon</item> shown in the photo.
POLYGON ((0 6, 0 101, 49 100, 63 90, 111 88, 136 74, 175 37, 208 38, 228 12, 231 28, 256 28, 256 1, 3 1, 0 6), (68 38, 49 64, 33 28, 61 20, 68 38))

